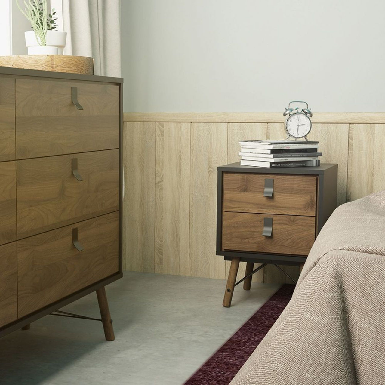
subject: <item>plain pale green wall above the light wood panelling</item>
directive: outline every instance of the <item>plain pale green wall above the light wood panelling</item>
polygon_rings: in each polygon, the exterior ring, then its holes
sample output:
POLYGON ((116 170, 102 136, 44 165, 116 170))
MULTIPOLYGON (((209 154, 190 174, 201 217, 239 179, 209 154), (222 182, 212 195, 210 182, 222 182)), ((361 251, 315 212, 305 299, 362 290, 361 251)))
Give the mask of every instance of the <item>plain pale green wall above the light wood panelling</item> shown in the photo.
POLYGON ((385 2, 124 0, 126 111, 385 109, 385 2))

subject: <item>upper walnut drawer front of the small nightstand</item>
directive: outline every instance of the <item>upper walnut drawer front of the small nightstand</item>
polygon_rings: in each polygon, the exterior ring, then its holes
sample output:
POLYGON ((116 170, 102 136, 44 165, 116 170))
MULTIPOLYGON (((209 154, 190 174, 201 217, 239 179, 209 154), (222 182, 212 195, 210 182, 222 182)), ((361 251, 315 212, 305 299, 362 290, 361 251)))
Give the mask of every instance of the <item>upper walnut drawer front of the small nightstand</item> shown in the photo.
POLYGON ((223 174, 223 210, 315 216, 317 177, 279 174, 223 174), (273 196, 264 196, 265 180, 273 179, 273 196))

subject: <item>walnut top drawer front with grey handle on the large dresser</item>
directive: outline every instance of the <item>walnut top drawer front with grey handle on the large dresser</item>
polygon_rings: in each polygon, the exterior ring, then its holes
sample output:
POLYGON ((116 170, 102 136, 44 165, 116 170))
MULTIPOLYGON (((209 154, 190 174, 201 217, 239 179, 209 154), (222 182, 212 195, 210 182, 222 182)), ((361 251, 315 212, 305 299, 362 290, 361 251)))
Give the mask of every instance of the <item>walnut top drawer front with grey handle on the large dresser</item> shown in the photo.
POLYGON ((16 79, 17 159, 118 147, 119 86, 16 79))

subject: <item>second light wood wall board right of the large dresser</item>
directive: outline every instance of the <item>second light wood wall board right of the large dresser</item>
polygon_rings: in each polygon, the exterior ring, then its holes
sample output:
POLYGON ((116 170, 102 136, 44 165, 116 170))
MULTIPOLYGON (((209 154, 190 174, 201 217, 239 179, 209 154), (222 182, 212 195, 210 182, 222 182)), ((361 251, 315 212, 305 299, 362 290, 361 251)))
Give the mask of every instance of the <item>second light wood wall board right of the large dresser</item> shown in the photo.
POLYGON ((190 126, 156 124, 156 273, 189 275, 190 126))

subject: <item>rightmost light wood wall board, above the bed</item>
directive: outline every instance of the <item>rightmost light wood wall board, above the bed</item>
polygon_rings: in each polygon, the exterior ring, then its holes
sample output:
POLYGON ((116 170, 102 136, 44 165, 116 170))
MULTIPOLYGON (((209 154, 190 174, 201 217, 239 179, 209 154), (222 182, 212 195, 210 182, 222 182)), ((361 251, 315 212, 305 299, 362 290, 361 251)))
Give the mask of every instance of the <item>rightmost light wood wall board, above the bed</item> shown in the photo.
POLYGON ((385 189, 385 125, 351 124, 348 200, 385 189))

